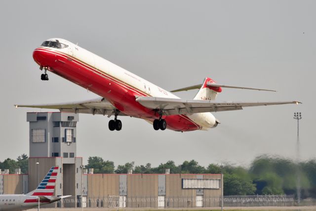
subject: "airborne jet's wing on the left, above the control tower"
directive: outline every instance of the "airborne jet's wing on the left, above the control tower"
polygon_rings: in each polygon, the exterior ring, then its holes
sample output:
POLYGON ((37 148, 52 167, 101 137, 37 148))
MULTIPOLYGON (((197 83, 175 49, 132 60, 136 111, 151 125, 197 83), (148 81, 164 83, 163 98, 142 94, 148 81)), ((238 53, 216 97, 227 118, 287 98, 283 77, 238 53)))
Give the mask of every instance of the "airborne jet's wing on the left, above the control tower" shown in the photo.
MULTIPOLYGON (((113 111, 116 110, 108 100, 99 97, 93 100, 84 100, 68 103, 56 103, 56 104, 41 104, 41 105, 14 105, 18 107, 28 108, 46 108, 46 109, 58 109, 62 112, 80 113, 80 114, 102 114, 111 116, 113 111)), ((118 113, 118 116, 125 116, 123 113, 118 113)))

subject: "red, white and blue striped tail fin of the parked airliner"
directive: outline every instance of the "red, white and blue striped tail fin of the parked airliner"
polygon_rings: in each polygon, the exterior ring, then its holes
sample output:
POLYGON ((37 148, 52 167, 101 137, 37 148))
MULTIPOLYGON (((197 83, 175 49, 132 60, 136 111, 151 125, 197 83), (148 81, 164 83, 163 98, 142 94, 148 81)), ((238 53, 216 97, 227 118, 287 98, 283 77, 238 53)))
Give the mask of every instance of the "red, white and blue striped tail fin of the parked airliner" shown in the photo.
POLYGON ((40 182, 39 186, 28 193, 29 196, 52 196, 55 190, 55 184, 57 179, 58 167, 52 167, 44 179, 40 182))

